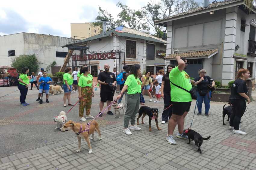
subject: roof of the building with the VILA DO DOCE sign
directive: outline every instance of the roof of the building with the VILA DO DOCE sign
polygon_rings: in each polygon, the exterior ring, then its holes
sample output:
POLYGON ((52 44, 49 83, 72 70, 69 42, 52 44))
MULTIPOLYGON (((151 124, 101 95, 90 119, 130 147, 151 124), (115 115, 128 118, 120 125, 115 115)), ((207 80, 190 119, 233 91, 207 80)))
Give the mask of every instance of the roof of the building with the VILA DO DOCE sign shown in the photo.
POLYGON ((87 41, 91 41, 91 40, 105 38, 105 37, 108 37, 112 34, 113 35, 115 34, 115 35, 118 35, 118 36, 121 36, 121 37, 137 38, 137 39, 152 41, 152 42, 157 42, 157 43, 167 43, 167 41, 162 40, 161 38, 155 37, 151 34, 146 34, 146 33, 137 31, 135 29, 126 28, 126 27, 123 27, 122 32, 115 31, 115 29, 111 29, 111 30, 106 31, 105 35, 103 35, 103 33, 101 33, 101 34, 83 39, 82 42, 87 42, 87 41))

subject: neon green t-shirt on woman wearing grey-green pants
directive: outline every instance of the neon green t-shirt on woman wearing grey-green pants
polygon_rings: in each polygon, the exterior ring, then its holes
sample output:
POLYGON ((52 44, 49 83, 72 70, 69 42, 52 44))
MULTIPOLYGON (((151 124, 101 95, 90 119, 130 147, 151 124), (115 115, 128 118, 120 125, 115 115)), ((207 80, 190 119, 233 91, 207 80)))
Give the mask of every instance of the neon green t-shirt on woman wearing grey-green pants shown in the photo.
POLYGON ((137 79, 135 79, 135 76, 133 74, 129 75, 124 83, 124 85, 128 86, 127 94, 141 93, 141 84, 142 83, 138 77, 137 79))

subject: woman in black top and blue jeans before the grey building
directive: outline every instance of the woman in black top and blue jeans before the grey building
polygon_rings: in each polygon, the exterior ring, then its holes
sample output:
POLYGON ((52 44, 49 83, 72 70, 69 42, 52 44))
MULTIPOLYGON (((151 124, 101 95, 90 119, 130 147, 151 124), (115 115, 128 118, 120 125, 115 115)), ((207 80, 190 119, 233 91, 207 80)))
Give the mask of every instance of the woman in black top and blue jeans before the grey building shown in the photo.
POLYGON ((202 105, 204 102, 205 116, 209 116, 210 101, 211 101, 211 88, 214 87, 215 82, 209 76, 205 76, 206 70, 200 69, 199 76, 192 80, 193 85, 197 85, 197 109, 198 114, 202 114, 202 105))

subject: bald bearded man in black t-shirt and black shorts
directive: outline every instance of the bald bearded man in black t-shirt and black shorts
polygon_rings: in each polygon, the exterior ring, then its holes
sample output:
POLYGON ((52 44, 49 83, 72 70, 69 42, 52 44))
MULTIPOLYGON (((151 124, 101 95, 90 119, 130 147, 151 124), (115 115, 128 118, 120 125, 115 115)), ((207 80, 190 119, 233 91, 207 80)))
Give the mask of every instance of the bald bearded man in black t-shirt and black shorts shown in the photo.
MULTIPOLYGON (((104 64, 105 71, 99 73, 98 75, 98 83, 101 85, 101 92, 100 92, 100 112, 103 109, 104 102, 107 102, 107 106, 111 104, 114 97, 114 86, 116 86, 116 76, 114 73, 109 71, 109 64, 104 64), (109 84, 109 83, 112 83, 109 84)), ((113 112, 111 112, 111 106, 108 108, 108 115, 114 115, 113 112)), ((99 115, 102 116, 102 113, 99 115)))

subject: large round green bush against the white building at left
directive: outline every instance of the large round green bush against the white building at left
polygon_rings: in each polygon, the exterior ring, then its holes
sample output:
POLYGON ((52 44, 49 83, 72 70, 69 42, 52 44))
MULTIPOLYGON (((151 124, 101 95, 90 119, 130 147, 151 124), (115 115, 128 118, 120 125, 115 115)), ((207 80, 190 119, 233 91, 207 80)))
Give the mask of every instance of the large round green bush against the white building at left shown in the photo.
POLYGON ((31 75, 32 72, 37 72, 39 69, 38 60, 35 54, 33 55, 19 55, 18 57, 14 57, 12 59, 11 67, 17 69, 17 71, 21 72, 21 69, 24 67, 29 68, 29 74, 31 75))

